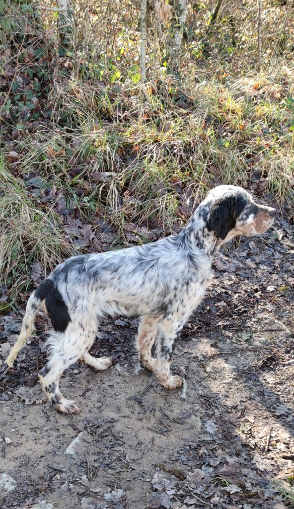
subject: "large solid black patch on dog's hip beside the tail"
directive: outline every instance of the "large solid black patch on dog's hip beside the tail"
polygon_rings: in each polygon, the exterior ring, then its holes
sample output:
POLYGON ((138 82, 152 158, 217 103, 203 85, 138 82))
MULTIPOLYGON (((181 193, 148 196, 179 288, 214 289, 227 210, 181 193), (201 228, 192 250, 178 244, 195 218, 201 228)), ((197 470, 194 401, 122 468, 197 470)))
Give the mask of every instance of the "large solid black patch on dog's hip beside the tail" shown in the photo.
POLYGON ((71 319, 67 305, 53 281, 51 279, 43 281, 38 290, 36 290, 35 297, 41 301, 45 299, 46 309, 53 329, 57 332, 65 332, 71 319))

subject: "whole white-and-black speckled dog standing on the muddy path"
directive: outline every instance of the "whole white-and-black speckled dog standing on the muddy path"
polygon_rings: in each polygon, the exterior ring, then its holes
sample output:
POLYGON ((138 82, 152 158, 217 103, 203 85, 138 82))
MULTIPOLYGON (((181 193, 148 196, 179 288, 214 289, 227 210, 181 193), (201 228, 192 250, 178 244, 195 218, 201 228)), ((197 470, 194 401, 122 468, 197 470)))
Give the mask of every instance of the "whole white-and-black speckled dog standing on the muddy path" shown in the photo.
POLYGON ((58 388, 62 373, 78 359, 106 370, 110 358, 89 354, 101 319, 140 316, 136 348, 143 366, 154 371, 164 387, 181 386, 182 379, 170 375, 170 364, 183 326, 211 281, 214 253, 236 235, 266 232, 275 214, 275 209, 254 203, 241 187, 222 185, 209 192, 178 235, 69 258, 28 299, 7 364, 13 365, 32 334, 38 309, 43 310, 54 330, 47 340, 49 360, 39 373, 42 387, 57 410, 79 413, 58 388), (151 356, 155 341, 156 359, 151 356))

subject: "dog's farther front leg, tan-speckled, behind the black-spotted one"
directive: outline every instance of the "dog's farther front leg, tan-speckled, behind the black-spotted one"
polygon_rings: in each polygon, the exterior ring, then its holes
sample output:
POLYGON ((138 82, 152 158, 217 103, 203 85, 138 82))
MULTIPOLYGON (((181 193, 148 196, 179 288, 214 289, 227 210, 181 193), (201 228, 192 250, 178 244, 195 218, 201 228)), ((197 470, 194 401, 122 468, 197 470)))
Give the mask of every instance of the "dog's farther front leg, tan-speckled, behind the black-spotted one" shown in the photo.
POLYGON ((151 350, 156 340, 158 323, 161 317, 141 317, 136 337, 136 349, 144 367, 150 371, 156 370, 156 359, 152 358, 151 350))

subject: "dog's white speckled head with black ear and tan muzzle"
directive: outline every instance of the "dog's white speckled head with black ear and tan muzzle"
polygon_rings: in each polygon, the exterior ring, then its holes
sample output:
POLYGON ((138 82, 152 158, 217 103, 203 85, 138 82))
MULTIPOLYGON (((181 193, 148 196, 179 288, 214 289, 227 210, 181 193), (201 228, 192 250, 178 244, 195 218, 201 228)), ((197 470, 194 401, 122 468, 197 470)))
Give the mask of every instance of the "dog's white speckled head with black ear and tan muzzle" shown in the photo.
POLYGON ((251 237, 266 232, 276 215, 272 207, 255 203, 242 187, 218 186, 210 191, 205 202, 210 203, 208 229, 223 242, 236 235, 251 237))

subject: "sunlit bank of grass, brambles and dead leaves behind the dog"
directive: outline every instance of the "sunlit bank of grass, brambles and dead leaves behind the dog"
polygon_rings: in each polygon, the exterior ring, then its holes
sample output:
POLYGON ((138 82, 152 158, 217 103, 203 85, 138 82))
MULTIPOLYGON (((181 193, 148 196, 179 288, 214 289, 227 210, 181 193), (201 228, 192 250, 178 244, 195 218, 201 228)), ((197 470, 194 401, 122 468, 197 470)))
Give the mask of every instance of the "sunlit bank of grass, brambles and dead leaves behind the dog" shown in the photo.
POLYGON ((188 4, 177 71, 177 6, 159 23, 148 4, 143 81, 138 2, 74 3, 67 19, 53 3, 0 2, 3 284, 49 270, 68 242, 103 250, 178 231, 220 183, 291 207, 294 6, 263 2, 257 72, 256 3, 221 2, 216 19, 211 4, 188 4))

